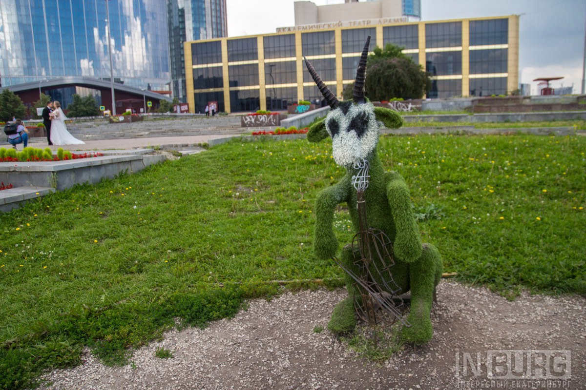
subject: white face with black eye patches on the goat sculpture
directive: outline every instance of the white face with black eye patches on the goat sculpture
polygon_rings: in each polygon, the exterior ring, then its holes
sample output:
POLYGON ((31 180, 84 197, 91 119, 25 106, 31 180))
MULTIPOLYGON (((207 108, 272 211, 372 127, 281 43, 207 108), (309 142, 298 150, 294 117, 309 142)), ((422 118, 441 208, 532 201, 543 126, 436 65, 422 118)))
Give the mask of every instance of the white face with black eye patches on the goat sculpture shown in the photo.
POLYGON ((332 137, 333 159, 345 168, 366 158, 379 141, 379 123, 372 103, 340 102, 328 113, 326 130, 332 137))

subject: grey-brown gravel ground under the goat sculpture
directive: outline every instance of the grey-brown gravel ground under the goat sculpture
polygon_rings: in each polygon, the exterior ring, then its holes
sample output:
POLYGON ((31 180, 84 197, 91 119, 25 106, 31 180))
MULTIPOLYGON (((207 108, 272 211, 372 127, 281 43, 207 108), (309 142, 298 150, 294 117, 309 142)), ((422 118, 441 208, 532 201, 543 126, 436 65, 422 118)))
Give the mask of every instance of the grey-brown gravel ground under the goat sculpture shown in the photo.
POLYGON ((491 385, 486 351, 571 350, 571 381, 557 382, 557 388, 586 389, 586 299, 580 296, 524 293, 509 302, 487 289, 444 280, 432 312, 434 339, 416 349, 406 346, 380 364, 347 350, 326 330, 313 332, 315 326, 325 327, 343 296, 339 289, 254 300, 248 310, 204 330, 166 333, 163 341, 135 351, 125 367, 105 367, 86 353, 85 364, 47 374, 52 383, 47 388, 415 390, 512 388, 524 382, 541 389, 548 385, 505 379, 491 385), (155 357, 161 347, 174 357, 155 357), (481 353, 478 378, 455 377, 458 352, 474 358, 481 353))

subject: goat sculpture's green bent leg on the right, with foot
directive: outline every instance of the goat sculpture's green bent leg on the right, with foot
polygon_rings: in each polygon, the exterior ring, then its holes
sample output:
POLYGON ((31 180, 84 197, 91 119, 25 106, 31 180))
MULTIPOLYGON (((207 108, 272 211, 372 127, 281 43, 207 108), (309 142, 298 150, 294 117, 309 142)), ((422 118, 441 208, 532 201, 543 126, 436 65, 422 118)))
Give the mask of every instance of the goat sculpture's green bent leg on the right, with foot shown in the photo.
POLYGON ((423 244, 421 257, 410 264, 411 310, 407 320, 411 327, 403 328, 404 339, 415 344, 431 340, 433 328, 430 312, 435 286, 440 282, 442 260, 431 244, 423 244))

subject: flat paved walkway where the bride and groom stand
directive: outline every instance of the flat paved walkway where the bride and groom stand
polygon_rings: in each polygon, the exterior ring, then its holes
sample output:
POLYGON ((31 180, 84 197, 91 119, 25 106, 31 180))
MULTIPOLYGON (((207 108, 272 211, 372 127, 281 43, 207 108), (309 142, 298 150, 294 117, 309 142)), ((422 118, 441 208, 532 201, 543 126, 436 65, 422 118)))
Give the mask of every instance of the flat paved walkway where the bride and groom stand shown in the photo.
MULTIPOLYGON (((161 149, 165 147, 173 149, 182 149, 190 147, 199 143, 207 143, 210 139, 218 139, 231 137, 239 134, 210 134, 203 136, 180 136, 180 137, 140 137, 140 138, 117 138, 110 140, 88 140, 83 145, 64 145, 51 146, 51 149, 57 150, 60 147, 66 150, 107 150, 107 149, 134 149, 139 147, 155 147, 159 146, 161 149)), ((4 146, 4 145, 2 145, 4 146)), ((4 147, 9 147, 6 144, 4 147)), ((47 140, 41 138, 33 138, 29 142, 29 146, 37 148, 47 147, 47 140)), ((18 146, 18 150, 22 150, 22 144, 18 146)))

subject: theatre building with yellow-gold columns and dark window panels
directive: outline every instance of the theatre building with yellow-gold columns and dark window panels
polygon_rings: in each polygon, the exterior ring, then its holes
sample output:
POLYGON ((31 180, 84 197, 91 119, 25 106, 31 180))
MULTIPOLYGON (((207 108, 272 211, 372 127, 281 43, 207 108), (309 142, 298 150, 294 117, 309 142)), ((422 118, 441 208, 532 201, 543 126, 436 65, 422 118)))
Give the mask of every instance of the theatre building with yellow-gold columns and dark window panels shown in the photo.
POLYGON ((284 110, 299 100, 325 104, 303 56, 342 98, 354 81, 366 37, 370 50, 393 43, 432 79, 427 98, 504 95, 518 88, 519 16, 410 22, 406 16, 315 23, 277 33, 185 42, 189 108, 203 112, 284 110))

